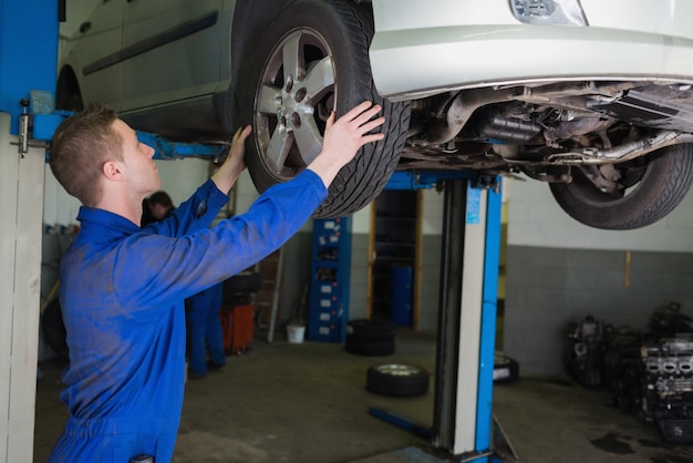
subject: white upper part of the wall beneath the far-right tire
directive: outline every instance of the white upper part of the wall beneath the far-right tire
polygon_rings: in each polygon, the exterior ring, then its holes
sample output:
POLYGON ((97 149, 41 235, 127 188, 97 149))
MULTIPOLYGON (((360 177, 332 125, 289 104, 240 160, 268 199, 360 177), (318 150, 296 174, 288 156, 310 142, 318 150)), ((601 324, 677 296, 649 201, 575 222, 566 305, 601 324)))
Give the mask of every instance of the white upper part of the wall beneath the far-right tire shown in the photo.
POLYGON ((662 220, 637 230, 600 230, 579 224, 556 204, 547 184, 507 182, 508 245, 567 249, 693 251, 693 193, 662 220))

